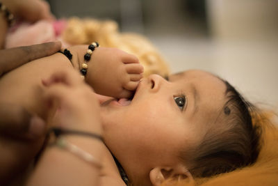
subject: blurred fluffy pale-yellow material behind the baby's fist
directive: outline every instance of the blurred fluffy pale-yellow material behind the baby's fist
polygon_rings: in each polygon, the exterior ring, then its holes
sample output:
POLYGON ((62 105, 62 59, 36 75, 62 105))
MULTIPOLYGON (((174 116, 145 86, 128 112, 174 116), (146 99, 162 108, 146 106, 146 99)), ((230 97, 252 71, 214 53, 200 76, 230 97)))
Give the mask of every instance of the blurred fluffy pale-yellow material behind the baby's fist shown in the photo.
POLYGON ((62 37, 70 45, 88 45, 97 41, 101 47, 115 47, 133 54, 144 66, 145 77, 151 74, 165 77, 170 74, 167 63, 147 38, 136 33, 120 33, 114 21, 72 17, 62 37))

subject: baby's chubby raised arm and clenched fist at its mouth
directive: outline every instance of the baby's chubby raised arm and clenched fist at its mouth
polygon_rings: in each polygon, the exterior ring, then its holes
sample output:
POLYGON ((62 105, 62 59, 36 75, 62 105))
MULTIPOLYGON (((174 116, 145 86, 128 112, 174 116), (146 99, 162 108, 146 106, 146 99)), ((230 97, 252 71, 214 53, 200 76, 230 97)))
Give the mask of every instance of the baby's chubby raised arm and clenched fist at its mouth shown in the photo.
POLYGON ((143 67, 138 59, 119 49, 96 47, 88 63, 84 59, 88 45, 70 47, 69 50, 72 52, 71 61, 57 53, 32 61, 3 76, 0 80, 0 100, 20 104, 45 119, 41 81, 53 72, 72 68, 80 71, 85 63, 88 65, 85 82, 96 93, 113 98, 129 98, 142 78, 143 67))

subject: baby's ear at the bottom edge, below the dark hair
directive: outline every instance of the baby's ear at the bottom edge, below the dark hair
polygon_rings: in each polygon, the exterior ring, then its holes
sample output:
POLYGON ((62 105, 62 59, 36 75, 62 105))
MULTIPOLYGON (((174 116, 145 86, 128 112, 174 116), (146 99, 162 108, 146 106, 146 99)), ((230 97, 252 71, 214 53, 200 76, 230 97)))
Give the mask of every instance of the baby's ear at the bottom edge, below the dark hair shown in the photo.
POLYGON ((167 179, 177 180, 184 178, 193 180, 191 173, 181 164, 177 166, 157 166, 149 172, 149 179, 154 186, 161 185, 167 179))

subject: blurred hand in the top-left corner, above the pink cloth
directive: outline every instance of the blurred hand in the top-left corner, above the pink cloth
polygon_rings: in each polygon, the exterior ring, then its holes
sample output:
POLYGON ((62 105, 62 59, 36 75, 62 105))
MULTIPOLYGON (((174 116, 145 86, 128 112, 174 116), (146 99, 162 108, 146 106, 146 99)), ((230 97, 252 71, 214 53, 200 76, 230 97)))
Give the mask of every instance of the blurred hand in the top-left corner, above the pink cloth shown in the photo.
POLYGON ((51 14, 49 4, 42 0, 1 0, 1 2, 13 13, 28 22, 38 20, 55 20, 51 14))

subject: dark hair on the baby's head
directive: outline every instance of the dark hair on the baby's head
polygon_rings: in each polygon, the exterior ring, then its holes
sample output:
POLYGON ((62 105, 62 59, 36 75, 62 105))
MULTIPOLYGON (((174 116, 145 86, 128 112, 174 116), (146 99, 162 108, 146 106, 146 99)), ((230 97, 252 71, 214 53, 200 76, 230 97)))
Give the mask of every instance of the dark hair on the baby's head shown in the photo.
MULTIPOLYGON (((208 131, 190 156, 190 173, 195 178, 215 176, 256 162, 259 155, 259 126, 253 125, 251 113, 256 107, 247 102, 236 89, 227 86, 228 101, 215 121, 223 127, 208 131)), ((181 155, 185 157, 186 153, 181 155)), ((184 160, 184 158, 182 158, 184 160)))

